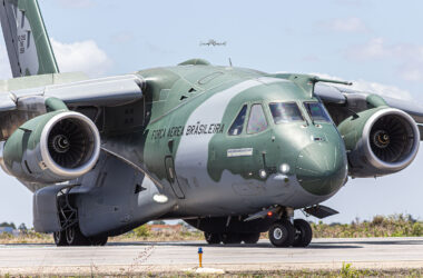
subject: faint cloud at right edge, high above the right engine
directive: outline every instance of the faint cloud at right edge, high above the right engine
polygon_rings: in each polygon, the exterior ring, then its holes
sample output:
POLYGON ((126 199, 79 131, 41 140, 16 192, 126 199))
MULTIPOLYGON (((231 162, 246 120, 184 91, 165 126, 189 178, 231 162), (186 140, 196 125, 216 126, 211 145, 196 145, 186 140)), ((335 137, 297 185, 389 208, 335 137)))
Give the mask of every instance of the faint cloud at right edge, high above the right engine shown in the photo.
POLYGON ((346 51, 352 60, 390 59, 396 62, 397 75, 406 81, 423 81, 423 46, 411 43, 388 44, 383 38, 375 38, 346 51))

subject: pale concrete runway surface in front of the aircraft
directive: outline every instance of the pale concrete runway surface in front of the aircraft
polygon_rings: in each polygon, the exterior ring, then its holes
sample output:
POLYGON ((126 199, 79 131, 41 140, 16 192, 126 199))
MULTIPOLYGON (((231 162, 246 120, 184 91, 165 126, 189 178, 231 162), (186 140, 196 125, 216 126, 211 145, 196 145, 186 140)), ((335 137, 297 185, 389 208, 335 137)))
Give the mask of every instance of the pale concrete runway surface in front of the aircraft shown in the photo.
POLYGON ((137 274, 186 271, 198 266, 226 271, 276 269, 422 268, 423 238, 315 239, 308 248, 257 245, 207 246, 204 241, 108 244, 106 247, 0 246, 0 274, 137 274))

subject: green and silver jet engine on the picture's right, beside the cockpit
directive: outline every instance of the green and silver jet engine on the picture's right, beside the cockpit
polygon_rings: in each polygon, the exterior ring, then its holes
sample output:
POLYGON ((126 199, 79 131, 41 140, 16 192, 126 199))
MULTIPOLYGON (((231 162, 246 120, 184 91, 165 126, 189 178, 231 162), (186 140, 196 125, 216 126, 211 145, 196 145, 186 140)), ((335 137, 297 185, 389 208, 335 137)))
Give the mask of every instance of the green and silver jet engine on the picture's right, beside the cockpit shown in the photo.
POLYGON ((407 167, 419 151, 420 132, 410 115, 380 107, 362 111, 340 123, 348 152, 348 175, 376 177, 407 167))

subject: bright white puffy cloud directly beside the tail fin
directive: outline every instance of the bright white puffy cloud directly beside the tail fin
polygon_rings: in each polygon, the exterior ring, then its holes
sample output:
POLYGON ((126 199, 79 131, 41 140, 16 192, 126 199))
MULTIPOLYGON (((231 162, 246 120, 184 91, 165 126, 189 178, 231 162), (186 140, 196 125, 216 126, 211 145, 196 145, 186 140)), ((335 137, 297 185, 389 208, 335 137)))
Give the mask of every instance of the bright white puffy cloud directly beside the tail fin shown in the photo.
POLYGON ((92 40, 62 43, 51 39, 51 44, 61 72, 82 71, 98 77, 111 67, 111 60, 92 40))

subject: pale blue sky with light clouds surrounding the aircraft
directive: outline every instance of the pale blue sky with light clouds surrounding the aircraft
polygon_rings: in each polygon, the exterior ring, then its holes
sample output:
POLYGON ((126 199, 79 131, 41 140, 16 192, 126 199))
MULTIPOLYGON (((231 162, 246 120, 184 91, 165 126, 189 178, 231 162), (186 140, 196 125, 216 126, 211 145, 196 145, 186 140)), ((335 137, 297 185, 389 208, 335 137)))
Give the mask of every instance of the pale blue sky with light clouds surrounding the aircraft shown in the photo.
MULTIPOLYGON (((92 77, 173 66, 190 58, 268 72, 322 73, 423 103, 422 1, 42 0, 62 71, 92 77), (200 41, 227 41, 200 47, 200 41)), ((0 78, 10 77, 0 43, 0 78)), ((400 173, 348 182, 326 203, 331 221, 376 214, 423 220, 423 153, 400 173)), ((31 193, 0 173, 0 221, 32 222, 31 193)))

